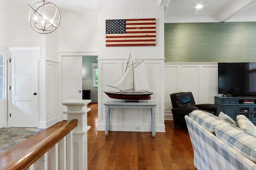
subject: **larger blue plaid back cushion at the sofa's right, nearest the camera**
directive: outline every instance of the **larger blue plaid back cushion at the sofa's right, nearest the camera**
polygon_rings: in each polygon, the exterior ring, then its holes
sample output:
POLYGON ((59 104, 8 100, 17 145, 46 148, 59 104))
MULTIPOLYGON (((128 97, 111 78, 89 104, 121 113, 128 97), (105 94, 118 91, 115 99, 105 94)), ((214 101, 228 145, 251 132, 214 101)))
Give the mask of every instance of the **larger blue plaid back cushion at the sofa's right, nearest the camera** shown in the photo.
POLYGON ((246 158, 256 163, 256 136, 228 122, 215 127, 215 135, 246 158))

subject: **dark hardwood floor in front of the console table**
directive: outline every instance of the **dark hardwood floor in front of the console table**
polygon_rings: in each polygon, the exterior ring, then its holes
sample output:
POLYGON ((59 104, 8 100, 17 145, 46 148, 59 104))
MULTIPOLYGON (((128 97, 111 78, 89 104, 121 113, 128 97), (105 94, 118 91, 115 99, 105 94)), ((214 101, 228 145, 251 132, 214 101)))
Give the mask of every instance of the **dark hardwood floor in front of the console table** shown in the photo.
POLYGON ((98 104, 88 105, 88 170, 196 170, 186 129, 165 121, 166 133, 97 131, 98 104))

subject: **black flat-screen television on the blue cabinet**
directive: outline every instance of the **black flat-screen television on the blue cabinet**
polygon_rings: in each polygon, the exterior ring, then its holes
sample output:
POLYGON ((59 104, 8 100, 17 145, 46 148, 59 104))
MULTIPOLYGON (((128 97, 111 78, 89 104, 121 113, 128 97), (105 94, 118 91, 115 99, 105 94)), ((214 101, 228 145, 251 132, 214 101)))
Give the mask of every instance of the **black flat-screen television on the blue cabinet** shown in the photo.
POLYGON ((218 63, 218 93, 256 97, 256 63, 218 63))

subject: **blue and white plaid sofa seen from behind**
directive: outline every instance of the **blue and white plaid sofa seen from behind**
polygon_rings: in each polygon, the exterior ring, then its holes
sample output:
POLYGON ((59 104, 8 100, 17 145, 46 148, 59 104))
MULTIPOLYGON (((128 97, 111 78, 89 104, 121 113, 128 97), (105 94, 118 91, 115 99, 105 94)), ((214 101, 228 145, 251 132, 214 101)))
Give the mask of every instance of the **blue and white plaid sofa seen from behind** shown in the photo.
POLYGON ((197 170, 256 170, 256 128, 244 115, 237 118, 231 124, 202 110, 185 116, 197 170))

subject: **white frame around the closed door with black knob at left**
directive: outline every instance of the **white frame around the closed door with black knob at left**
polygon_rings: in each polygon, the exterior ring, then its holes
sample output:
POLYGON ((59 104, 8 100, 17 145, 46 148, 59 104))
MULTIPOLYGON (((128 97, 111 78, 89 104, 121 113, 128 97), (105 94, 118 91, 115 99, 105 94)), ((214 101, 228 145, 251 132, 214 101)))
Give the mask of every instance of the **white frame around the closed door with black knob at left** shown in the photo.
MULTIPOLYGON (((11 53, 37 53, 37 61, 38 59, 40 59, 40 50, 41 50, 41 47, 10 47, 8 48, 8 53, 9 53, 9 57, 11 57, 11 53)), ((11 59, 10 59, 11 60, 11 59)), ((12 86, 12 66, 11 66, 11 63, 8 62, 8 87, 12 86)), ((38 88, 38 73, 37 72, 37 90, 39 89, 38 88)), ((11 104, 10 102, 12 101, 12 94, 10 92, 10 90, 8 90, 8 110, 11 110, 11 104)), ((39 107, 39 100, 38 100, 38 95, 37 95, 37 115, 36 115, 36 119, 38 121, 38 107, 39 107)), ((8 120, 10 120, 10 114, 8 113, 8 120)), ((38 125, 38 122, 37 122, 37 125, 38 125)), ((8 127, 10 127, 10 121, 8 121, 8 127)))

